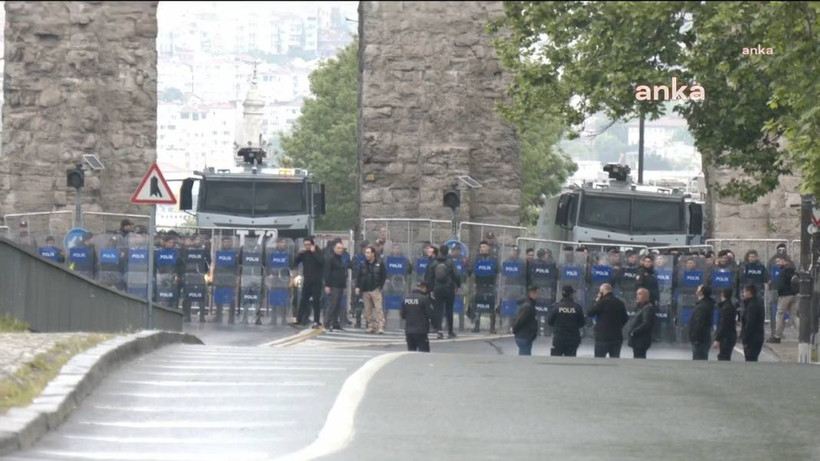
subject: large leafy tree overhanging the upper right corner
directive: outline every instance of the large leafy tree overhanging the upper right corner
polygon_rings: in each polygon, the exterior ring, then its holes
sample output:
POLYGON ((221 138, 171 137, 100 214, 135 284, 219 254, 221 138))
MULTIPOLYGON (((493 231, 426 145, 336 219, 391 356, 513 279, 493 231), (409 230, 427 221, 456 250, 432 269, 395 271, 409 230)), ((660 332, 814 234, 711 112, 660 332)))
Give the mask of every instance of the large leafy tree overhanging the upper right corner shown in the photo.
MULTIPOLYGON (((689 125, 705 164, 742 175, 716 189, 753 202, 796 169, 820 192, 820 73, 817 16, 808 2, 505 2, 488 26, 513 70, 502 114, 521 125, 551 115, 580 125, 604 111, 613 120, 654 120, 667 101, 636 101, 638 85, 704 87, 704 101, 674 110, 689 125), (765 43, 772 56, 744 56, 765 43), (754 44, 754 45, 753 45, 754 44), (813 135, 812 133, 815 133, 813 135), (785 146, 781 141, 787 141, 785 146)), ((571 134, 576 135, 575 131, 571 134)), ((818 194, 820 195, 820 194, 818 194)))

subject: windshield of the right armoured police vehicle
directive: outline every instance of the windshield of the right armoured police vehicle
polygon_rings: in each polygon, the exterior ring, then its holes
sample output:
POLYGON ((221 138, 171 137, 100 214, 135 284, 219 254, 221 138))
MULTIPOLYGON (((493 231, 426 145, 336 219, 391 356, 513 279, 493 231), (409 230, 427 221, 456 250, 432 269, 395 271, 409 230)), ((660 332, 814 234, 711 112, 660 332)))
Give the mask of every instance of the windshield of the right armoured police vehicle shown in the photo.
POLYGON ((578 223, 616 232, 683 232, 682 202, 584 195, 578 223))

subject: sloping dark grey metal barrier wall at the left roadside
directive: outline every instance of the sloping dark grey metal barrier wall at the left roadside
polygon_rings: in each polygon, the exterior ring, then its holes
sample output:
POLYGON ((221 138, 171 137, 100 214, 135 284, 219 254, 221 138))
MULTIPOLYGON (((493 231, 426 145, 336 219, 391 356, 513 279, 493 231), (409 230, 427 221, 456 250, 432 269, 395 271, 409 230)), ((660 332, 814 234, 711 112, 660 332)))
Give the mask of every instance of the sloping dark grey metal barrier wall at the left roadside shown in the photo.
MULTIPOLYGON (((146 325, 148 303, 27 253, 0 239, 0 313, 33 331, 123 332, 146 325)), ((182 315, 154 306, 154 328, 181 331, 182 315)))

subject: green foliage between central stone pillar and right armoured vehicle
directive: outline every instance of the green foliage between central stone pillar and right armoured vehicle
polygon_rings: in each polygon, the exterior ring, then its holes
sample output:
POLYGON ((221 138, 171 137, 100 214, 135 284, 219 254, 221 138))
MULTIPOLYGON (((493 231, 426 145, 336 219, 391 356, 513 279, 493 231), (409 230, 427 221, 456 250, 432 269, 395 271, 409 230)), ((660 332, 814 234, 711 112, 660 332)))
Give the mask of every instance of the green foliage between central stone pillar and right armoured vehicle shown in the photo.
POLYGON ((540 213, 541 195, 555 195, 564 181, 578 169, 566 154, 558 151, 564 126, 555 120, 530 120, 521 133, 521 222, 534 225, 540 213))

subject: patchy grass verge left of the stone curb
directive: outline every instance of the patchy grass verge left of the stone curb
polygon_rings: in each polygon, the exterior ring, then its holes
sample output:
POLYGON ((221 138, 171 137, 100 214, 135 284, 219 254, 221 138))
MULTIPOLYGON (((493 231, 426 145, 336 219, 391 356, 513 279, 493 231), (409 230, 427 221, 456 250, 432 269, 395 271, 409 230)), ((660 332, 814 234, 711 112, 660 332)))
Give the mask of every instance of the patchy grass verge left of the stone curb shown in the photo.
POLYGON ((0 382, 0 414, 30 404, 71 357, 113 337, 111 334, 91 334, 61 341, 23 365, 12 378, 0 382))

